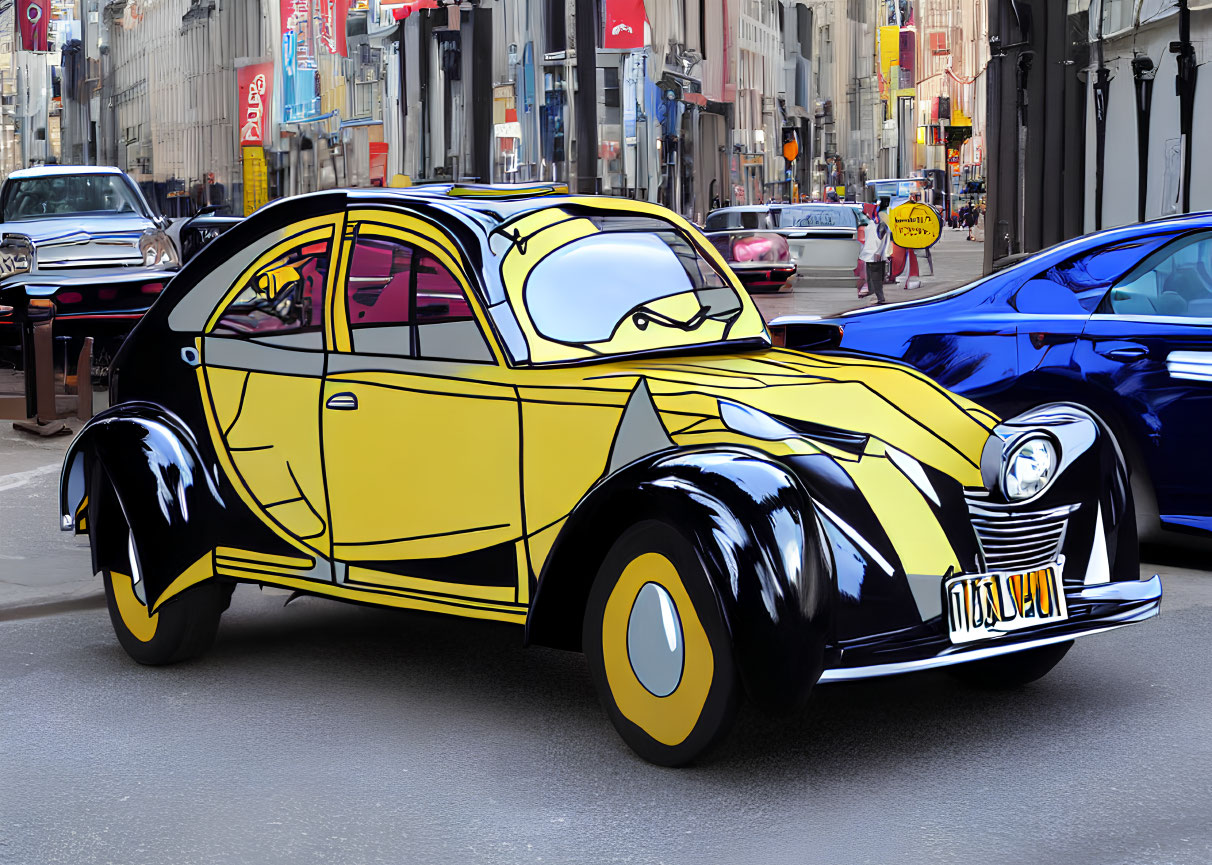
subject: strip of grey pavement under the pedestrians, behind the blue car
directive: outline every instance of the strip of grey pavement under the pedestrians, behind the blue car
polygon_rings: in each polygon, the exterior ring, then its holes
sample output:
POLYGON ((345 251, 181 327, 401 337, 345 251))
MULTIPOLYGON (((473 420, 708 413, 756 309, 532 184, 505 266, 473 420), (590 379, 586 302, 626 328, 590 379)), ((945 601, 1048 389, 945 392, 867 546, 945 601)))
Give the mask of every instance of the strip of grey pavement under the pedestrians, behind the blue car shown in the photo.
MULTIPOLYGON (((942 294, 951 288, 972 282, 983 276, 984 244, 966 240, 967 231, 943 229, 943 236, 931 250, 934 275, 921 277, 921 288, 907 291, 901 285, 888 285, 884 296, 888 303, 916 300, 942 294)), ((925 256, 919 256, 922 270, 927 270, 925 256)), ((902 280, 904 277, 902 276, 902 280)), ((779 315, 837 315, 851 309, 875 304, 874 297, 858 298, 854 280, 813 281, 796 280, 791 291, 778 294, 754 294, 758 309, 767 321, 779 315)))

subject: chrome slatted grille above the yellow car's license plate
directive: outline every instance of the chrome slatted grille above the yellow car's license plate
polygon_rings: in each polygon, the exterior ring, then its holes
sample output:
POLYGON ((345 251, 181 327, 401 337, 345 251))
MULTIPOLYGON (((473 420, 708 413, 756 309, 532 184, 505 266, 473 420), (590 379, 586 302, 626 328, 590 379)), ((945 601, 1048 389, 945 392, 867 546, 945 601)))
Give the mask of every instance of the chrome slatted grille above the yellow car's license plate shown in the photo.
POLYGON ((968 497, 968 514, 987 571, 1019 573, 1051 565, 1060 554, 1069 515, 1077 510, 994 510, 974 498, 968 497))

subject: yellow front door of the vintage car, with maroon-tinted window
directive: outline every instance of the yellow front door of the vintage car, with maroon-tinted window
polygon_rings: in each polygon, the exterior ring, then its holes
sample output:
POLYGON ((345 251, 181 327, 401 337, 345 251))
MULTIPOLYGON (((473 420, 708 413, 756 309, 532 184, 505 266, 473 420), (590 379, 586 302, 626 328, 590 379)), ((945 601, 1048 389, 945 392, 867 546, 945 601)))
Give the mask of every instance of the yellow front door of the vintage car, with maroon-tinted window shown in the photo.
POLYGON ((518 395, 453 242, 368 210, 343 256, 321 411, 338 579, 525 603, 518 395))

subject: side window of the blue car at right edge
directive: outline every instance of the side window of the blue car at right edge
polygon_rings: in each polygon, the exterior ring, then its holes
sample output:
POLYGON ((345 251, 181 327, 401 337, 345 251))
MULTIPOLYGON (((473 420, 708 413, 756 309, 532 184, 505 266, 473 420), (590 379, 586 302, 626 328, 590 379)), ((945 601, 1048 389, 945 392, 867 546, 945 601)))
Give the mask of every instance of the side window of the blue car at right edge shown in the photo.
POLYGON ((1212 233, 1154 252, 1111 287, 1098 311, 1212 319, 1212 233))

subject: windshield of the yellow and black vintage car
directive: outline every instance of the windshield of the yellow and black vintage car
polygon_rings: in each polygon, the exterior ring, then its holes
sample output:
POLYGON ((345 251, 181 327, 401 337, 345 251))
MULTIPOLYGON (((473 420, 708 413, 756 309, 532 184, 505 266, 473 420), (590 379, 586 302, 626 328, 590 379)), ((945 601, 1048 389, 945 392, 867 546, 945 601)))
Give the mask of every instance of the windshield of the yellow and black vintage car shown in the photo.
POLYGON ((543 254, 525 280, 537 336, 572 349, 536 360, 764 338, 760 317, 734 327, 751 304, 673 224, 642 216, 577 222, 581 236, 543 254))

